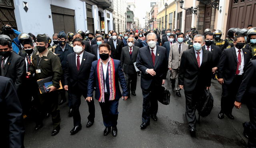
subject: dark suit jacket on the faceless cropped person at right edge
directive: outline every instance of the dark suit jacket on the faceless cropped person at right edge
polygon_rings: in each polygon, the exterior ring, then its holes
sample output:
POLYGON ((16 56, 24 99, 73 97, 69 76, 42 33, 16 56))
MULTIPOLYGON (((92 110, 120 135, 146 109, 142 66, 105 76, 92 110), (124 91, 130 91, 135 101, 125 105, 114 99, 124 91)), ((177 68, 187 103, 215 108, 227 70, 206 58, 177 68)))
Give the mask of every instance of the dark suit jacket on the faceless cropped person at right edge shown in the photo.
POLYGON ((256 59, 248 63, 243 81, 236 95, 236 101, 241 102, 247 92, 256 95, 256 59))

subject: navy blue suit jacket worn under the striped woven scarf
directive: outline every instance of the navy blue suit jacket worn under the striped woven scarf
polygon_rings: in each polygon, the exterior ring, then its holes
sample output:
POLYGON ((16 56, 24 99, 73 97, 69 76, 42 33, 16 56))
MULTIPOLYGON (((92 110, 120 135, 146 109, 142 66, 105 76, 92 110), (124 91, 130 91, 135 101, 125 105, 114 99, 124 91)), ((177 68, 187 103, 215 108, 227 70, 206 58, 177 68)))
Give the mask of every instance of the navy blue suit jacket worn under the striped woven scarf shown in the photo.
MULTIPOLYGON (((91 68, 90 77, 89 77, 89 81, 88 81, 87 97, 93 96, 93 91, 94 91, 94 87, 95 87, 95 99, 99 100, 100 88, 99 88, 99 81, 98 81, 97 65, 98 65, 98 60, 92 62, 92 68, 91 68)), ((119 60, 114 59, 114 67, 115 67, 115 80, 116 80, 115 81, 115 86, 116 86, 116 98, 115 99, 118 100, 122 96, 128 96, 128 91, 127 91, 126 81, 124 78, 124 72, 122 71, 122 67, 121 67, 119 60), (122 87, 122 91, 123 91, 122 94, 120 91, 118 81, 120 82, 120 85, 122 87)), ((110 93, 109 85, 108 85, 109 84, 108 71, 106 73, 105 83, 106 83, 107 91, 108 91, 108 93, 110 93)))

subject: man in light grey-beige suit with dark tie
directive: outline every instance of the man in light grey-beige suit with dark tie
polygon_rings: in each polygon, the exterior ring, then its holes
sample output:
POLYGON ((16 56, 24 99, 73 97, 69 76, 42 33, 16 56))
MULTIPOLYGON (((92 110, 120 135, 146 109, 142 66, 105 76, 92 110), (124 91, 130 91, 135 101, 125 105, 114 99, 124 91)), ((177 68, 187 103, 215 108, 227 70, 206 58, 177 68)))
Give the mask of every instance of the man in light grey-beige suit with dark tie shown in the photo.
MULTIPOLYGON (((172 90, 174 90, 176 78, 178 78, 179 68, 180 68, 180 60, 183 51, 188 50, 188 44, 184 43, 184 34, 179 33, 177 34, 178 42, 174 43, 171 46, 170 54, 169 54, 169 61, 168 61, 168 68, 170 69, 171 75, 171 82, 172 82, 172 90)), ((180 97, 180 87, 177 84, 176 87, 176 95, 180 97)))

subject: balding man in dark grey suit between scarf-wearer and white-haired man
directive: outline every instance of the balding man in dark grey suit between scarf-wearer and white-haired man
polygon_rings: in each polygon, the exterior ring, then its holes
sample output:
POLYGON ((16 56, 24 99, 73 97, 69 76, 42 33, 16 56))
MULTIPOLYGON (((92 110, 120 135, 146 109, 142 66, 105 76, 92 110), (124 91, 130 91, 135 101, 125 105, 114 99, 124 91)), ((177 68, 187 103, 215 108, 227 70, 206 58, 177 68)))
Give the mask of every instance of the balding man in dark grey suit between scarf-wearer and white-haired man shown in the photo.
POLYGON ((137 72, 134 67, 134 62, 137 60, 139 47, 134 46, 134 42, 133 37, 127 39, 128 46, 122 48, 120 60, 127 83, 128 97, 130 97, 130 92, 132 92, 132 95, 136 96, 137 72))

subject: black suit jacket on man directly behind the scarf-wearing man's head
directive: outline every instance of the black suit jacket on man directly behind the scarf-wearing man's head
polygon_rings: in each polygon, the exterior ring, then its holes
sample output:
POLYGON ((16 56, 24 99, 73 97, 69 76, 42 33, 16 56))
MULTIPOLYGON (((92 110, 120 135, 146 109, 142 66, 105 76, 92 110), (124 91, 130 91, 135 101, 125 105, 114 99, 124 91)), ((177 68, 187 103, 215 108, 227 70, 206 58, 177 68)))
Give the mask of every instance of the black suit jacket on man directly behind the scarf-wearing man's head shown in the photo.
POLYGON ((123 42, 120 41, 119 39, 116 39, 116 48, 115 48, 115 46, 114 46, 113 40, 108 41, 107 43, 108 43, 108 44, 110 45, 110 47, 111 47, 111 55, 110 55, 110 56, 111 56, 113 59, 118 59, 118 60, 120 60, 121 52, 122 52, 122 47, 123 47, 123 42))

